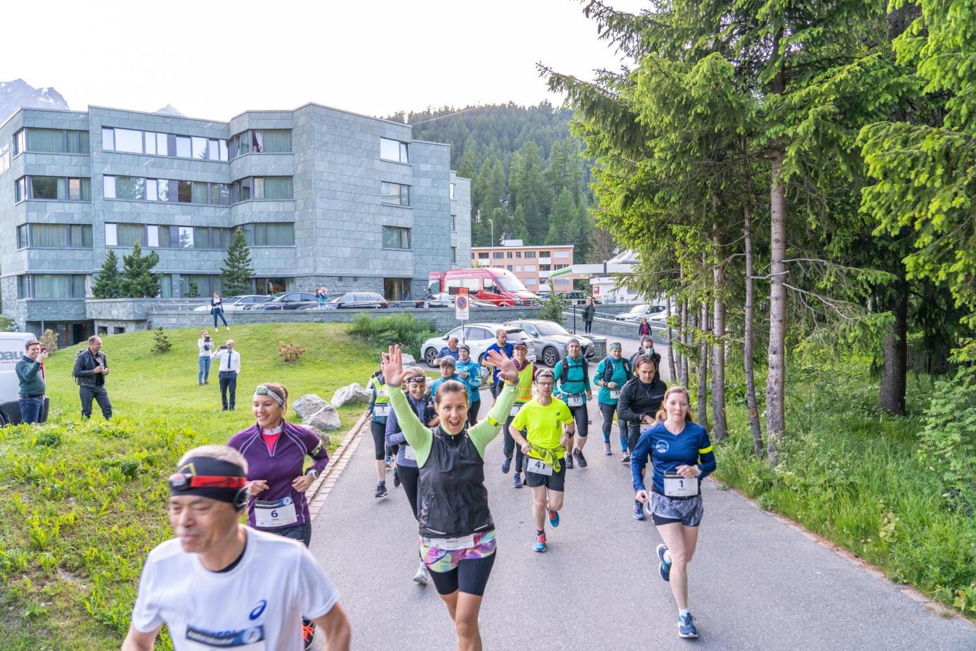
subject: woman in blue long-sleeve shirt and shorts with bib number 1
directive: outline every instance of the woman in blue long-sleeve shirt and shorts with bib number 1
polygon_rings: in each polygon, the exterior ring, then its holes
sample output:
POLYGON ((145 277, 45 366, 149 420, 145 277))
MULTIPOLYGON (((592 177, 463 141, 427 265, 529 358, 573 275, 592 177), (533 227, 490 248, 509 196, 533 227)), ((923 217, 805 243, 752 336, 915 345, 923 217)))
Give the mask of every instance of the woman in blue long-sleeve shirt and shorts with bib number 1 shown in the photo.
POLYGON ((671 582, 679 637, 698 637, 695 618, 688 610, 688 563, 695 554, 704 512, 702 478, 715 469, 709 433, 692 420, 689 404, 683 386, 668 389, 656 424, 640 435, 630 460, 634 499, 648 504, 664 541, 658 545, 658 573, 671 582), (647 456, 653 462, 650 497, 643 478, 647 456))

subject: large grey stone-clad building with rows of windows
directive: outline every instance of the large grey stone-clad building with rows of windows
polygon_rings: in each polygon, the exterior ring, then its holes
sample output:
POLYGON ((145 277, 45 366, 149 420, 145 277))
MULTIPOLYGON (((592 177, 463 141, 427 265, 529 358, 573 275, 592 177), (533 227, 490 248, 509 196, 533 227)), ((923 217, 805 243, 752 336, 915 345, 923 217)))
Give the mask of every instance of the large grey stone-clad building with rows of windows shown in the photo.
POLYGON ((136 241, 159 253, 161 298, 207 297, 236 228, 256 293, 421 296, 429 272, 468 266, 470 182, 448 145, 411 134, 315 104, 229 122, 21 109, 0 126, 3 312, 82 340, 108 249, 121 261, 136 241))

